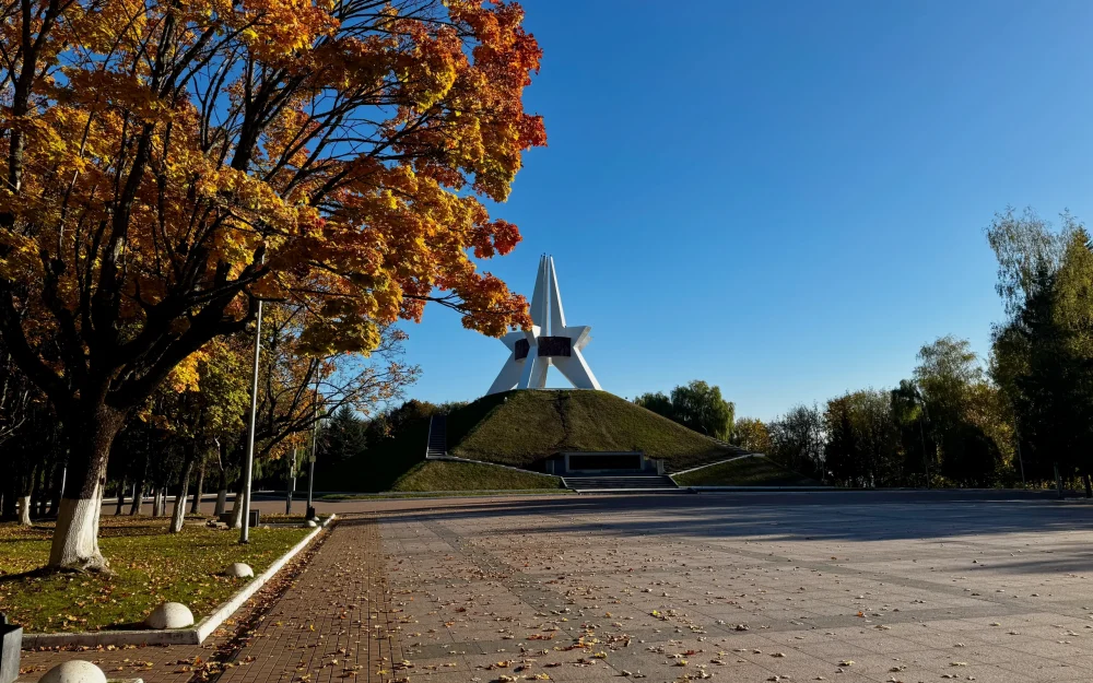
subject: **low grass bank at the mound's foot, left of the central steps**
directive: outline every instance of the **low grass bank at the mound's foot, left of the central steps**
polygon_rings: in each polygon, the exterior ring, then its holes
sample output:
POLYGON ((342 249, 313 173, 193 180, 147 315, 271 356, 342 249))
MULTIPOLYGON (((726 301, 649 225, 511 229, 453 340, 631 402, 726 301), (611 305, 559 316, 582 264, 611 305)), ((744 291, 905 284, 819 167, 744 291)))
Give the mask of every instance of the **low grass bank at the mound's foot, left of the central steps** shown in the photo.
POLYGON ((428 460, 400 476, 391 491, 501 491, 559 488, 557 476, 520 472, 478 462, 428 460))

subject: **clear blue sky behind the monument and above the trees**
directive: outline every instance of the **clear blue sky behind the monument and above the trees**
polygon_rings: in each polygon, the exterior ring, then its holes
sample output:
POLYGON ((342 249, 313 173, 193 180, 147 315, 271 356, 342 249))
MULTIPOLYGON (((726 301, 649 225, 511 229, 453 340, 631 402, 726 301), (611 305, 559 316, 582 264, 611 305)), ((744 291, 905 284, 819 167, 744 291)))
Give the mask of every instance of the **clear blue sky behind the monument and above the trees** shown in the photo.
MULTIPOLYGON (((942 334, 986 354, 992 214, 1093 222, 1088 1, 524 4, 549 146, 486 269, 530 297, 553 254, 616 395, 701 378, 771 419, 890 387, 942 334)), ((507 354, 435 307, 408 332, 421 399, 481 396, 507 354)))

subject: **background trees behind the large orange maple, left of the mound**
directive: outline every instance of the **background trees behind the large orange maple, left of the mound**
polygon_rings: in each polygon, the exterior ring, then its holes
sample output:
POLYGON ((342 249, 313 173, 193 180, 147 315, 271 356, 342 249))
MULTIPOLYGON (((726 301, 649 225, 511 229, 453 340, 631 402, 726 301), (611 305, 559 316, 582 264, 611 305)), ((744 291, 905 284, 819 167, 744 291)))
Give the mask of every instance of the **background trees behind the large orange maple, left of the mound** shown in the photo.
MULTIPOLYGON (((313 454, 338 456, 351 449, 357 423, 369 431, 399 424, 401 413, 389 417, 392 411, 384 407, 419 375, 418 367, 403 363, 404 334, 395 329, 384 330, 380 345, 367 357, 303 353, 303 315, 283 305, 266 309, 255 424, 256 486, 280 488, 307 474, 305 463, 313 454)), ((231 513, 230 525, 240 525, 254 342, 251 331, 207 345, 179 365, 121 427, 104 484, 117 498, 115 515, 143 514, 144 501, 151 497, 149 514, 165 516, 167 496, 175 496, 168 531, 178 532, 187 511, 198 511, 202 494, 215 492, 213 514, 231 513), (231 493, 236 495, 228 505, 231 493)), ((8 456, 0 462, 0 517, 28 525, 58 514, 69 448, 60 417, 10 362, 0 366, 0 400, 7 401, 0 407, 0 448, 8 456)), ((362 428, 362 444, 363 436, 362 428)))

